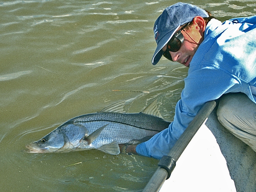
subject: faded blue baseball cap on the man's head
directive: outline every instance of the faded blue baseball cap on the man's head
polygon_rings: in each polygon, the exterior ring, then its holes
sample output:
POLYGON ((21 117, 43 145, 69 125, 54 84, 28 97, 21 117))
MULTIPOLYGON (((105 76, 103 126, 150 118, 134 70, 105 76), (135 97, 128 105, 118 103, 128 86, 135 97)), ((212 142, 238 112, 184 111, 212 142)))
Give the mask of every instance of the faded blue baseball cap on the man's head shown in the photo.
POLYGON ((156 65, 161 59, 163 55, 162 48, 172 38, 175 31, 181 25, 191 22, 196 16, 209 17, 204 9, 181 2, 171 5, 163 11, 163 13, 156 19, 154 25, 157 47, 152 58, 153 65, 156 65))

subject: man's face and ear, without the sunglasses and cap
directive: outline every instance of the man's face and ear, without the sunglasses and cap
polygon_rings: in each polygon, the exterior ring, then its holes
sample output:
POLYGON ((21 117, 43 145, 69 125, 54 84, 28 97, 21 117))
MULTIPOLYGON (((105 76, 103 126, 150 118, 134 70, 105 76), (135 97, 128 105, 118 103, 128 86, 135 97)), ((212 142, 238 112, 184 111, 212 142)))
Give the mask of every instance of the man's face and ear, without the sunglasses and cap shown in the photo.
MULTIPOLYGON (((182 43, 180 49, 177 52, 169 51, 173 61, 177 61, 186 67, 189 67, 190 61, 192 60, 197 48, 203 40, 202 34, 199 32, 199 30, 196 29, 194 25, 195 24, 193 24, 189 30, 185 29, 186 31, 181 31, 184 36, 184 42, 182 43)), ((163 47, 163 51, 166 50, 166 46, 167 45, 163 47)))

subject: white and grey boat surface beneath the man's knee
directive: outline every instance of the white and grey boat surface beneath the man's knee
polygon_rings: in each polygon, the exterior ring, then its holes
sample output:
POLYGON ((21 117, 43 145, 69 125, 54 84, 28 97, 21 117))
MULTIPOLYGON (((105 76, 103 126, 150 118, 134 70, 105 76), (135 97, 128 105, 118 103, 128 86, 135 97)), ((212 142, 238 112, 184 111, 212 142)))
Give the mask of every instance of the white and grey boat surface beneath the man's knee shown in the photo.
POLYGON ((254 192, 255 173, 256 153, 218 122, 215 109, 176 162, 160 192, 254 192))

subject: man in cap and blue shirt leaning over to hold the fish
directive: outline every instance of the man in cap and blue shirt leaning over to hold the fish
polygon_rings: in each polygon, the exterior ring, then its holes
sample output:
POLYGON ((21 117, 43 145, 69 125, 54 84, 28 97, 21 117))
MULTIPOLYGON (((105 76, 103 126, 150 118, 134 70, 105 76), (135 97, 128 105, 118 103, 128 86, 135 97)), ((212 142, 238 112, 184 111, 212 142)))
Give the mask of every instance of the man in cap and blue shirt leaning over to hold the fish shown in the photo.
POLYGON ((219 121, 256 151, 255 24, 256 16, 221 23, 191 4, 167 7, 154 25, 157 48, 152 63, 164 56, 189 67, 185 87, 168 129, 137 146, 121 145, 121 151, 160 159, 202 105, 223 94, 219 121))

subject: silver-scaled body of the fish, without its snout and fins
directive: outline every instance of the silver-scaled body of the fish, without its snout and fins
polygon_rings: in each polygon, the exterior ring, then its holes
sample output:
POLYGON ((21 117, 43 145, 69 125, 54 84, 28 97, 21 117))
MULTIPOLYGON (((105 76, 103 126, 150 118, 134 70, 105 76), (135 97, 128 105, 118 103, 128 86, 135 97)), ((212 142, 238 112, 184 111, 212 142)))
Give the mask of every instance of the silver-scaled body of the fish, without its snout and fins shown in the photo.
POLYGON ((170 122, 162 118, 144 113, 90 113, 70 119, 59 128, 63 129, 69 142, 76 143, 78 135, 80 139, 86 135, 92 134, 100 127, 108 124, 100 135, 90 144, 83 142, 78 146, 80 149, 99 148, 102 145, 112 143, 113 141, 129 144, 138 144, 147 141, 156 133, 168 128, 170 122), (63 127, 63 128, 61 128, 63 127), (71 131, 72 129, 72 131, 71 131), (77 133, 77 134, 71 134, 77 133))

